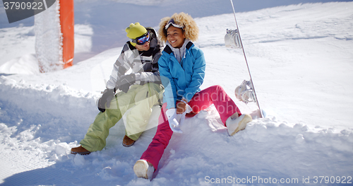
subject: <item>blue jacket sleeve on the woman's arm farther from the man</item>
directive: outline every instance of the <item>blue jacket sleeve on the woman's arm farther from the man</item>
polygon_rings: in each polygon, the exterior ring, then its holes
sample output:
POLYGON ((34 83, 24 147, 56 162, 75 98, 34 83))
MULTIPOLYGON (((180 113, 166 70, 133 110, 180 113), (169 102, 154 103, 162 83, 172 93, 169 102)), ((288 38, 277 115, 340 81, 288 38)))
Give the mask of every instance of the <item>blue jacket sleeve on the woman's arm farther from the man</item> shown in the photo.
POLYGON ((195 63, 193 64, 193 74, 191 76, 191 83, 185 89, 183 98, 188 102, 193 98, 196 92, 200 91, 200 86, 205 79, 206 62, 202 50, 192 50, 195 63))

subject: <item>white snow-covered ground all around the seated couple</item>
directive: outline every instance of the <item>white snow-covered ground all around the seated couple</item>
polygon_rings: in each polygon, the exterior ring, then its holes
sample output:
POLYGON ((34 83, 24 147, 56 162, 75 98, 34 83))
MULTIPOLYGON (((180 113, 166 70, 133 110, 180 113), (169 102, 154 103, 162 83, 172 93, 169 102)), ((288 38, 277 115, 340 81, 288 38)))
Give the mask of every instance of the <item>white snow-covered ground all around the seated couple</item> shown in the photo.
MULTIPOLYGON (((162 1, 136 2, 126 4, 126 12, 162 1)), ((159 19, 136 16, 133 22, 157 29, 159 19)), ((202 88, 220 84, 245 110, 234 95, 234 88, 249 79, 244 57, 224 43, 225 30, 235 27, 233 14, 195 20, 201 30, 196 45, 207 62, 202 88)), ((187 118, 151 182, 136 178, 132 168, 155 128, 125 148, 121 121, 102 151, 69 153, 97 115, 95 102, 121 51, 109 44, 95 54, 97 25, 101 30, 114 26, 102 28, 94 18, 75 25, 76 52, 82 59, 92 57, 47 74, 36 66, 34 28, 1 27, 0 185, 352 185, 353 2, 265 8, 237 13, 237 20, 267 117, 231 137, 213 106, 187 118)), ((151 119, 158 115, 154 110, 151 119)))

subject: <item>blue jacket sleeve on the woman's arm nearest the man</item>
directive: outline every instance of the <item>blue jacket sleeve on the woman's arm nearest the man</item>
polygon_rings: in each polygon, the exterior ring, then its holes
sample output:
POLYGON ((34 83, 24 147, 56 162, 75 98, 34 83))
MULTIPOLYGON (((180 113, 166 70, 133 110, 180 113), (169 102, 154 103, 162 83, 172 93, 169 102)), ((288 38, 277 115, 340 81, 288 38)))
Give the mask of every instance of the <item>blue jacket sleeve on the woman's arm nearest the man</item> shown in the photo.
POLYGON ((167 103, 167 109, 175 107, 177 103, 177 87, 170 74, 168 60, 168 54, 162 54, 162 57, 158 60, 158 65, 160 66, 160 79, 164 86, 163 103, 167 103))

